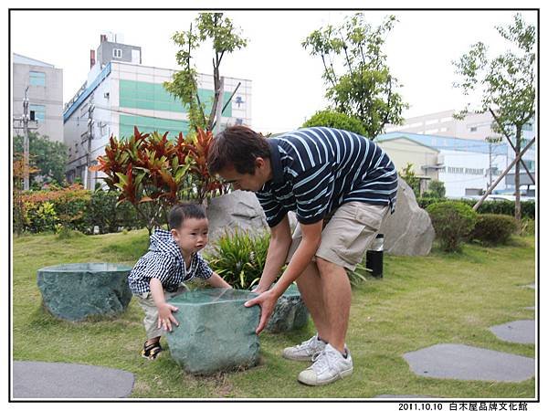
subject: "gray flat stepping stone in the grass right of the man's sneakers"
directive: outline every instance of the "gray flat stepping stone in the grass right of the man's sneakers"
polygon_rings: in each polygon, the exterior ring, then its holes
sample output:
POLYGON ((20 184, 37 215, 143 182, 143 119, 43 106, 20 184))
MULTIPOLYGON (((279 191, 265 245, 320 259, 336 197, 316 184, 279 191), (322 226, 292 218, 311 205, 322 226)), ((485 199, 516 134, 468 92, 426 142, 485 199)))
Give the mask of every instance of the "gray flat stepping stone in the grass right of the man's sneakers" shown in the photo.
POLYGON ((433 378, 521 382, 534 376, 532 358, 463 344, 432 345, 404 358, 415 374, 433 378))

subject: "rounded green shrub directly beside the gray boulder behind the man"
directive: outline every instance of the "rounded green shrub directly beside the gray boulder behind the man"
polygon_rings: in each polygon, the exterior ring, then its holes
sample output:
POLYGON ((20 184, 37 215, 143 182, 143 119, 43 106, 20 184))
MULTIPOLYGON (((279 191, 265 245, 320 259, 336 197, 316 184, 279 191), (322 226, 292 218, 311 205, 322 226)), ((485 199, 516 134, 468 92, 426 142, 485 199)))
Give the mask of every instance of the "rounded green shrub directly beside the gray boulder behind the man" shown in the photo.
POLYGON ((477 220, 472 207, 459 202, 441 201, 428 205, 427 212, 444 251, 458 251, 477 220))

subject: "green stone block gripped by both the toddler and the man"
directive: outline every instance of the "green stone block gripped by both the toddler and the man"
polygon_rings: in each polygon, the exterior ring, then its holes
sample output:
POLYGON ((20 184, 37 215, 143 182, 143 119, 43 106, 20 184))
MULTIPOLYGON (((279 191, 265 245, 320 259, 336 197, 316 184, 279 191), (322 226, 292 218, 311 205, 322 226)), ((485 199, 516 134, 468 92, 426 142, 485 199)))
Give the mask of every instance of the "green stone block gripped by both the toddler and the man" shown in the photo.
POLYGON ((191 374, 214 374, 258 363, 258 305, 245 307, 250 291, 193 290, 169 300, 179 322, 167 333, 175 362, 191 374))

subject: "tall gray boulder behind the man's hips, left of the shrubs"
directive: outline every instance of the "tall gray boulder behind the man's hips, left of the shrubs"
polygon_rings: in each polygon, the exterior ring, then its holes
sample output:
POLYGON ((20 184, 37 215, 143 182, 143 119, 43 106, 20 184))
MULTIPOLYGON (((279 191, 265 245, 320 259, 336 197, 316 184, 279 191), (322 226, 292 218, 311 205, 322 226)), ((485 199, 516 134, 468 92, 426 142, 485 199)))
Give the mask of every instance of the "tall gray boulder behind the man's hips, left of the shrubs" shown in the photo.
POLYGON ((396 256, 427 256, 436 233, 426 210, 416 204, 409 185, 398 177, 395 213, 385 218, 380 233, 385 235, 385 252, 396 256))

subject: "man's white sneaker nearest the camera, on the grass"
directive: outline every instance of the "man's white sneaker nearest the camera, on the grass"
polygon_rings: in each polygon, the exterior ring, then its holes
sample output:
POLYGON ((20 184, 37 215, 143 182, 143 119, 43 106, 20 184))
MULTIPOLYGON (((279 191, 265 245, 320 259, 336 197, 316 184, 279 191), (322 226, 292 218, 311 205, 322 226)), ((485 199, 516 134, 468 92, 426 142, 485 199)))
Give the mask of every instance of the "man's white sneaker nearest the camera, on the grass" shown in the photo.
POLYGON ((302 384, 325 385, 347 377, 353 372, 352 356, 348 349, 344 358, 331 344, 327 344, 325 350, 314 355, 312 361, 314 364, 299 374, 298 380, 302 384))

